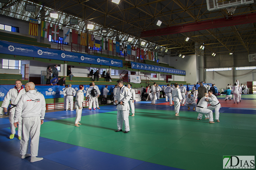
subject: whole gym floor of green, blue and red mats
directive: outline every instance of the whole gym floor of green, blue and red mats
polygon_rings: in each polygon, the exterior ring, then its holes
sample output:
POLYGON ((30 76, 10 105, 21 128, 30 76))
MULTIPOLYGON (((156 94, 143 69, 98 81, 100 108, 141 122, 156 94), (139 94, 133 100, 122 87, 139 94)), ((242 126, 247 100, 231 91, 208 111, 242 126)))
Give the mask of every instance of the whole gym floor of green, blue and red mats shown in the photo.
MULTIPOLYGON (((130 132, 115 132, 116 107, 83 109, 80 127, 74 111, 47 112, 41 125, 38 157, 21 159, 17 133, 9 139, 8 118, 0 119, 1 170, 218 170, 223 155, 255 155, 256 95, 242 95, 241 103, 224 101, 220 123, 196 120, 198 113, 174 106, 161 98, 135 103, 129 117, 130 132)), ((215 114, 214 114, 215 117, 215 114)), ((204 118, 204 117, 203 117, 204 118)), ((28 151, 30 153, 30 151, 28 151)))

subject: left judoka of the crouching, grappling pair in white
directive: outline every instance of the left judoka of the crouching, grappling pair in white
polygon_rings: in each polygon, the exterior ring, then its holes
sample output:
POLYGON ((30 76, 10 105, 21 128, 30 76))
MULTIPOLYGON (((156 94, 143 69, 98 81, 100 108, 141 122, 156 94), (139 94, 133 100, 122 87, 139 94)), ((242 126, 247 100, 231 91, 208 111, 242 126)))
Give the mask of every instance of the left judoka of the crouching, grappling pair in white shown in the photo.
POLYGON ((196 106, 196 112, 198 112, 197 120, 201 120, 203 117, 203 114, 209 114, 208 115, 209 123, 215 123, 213 121, 213 111, 211 111, 210 109, 207 109, 207 105, 208 105, 208 102, 206 101, 207 98, 208 98, 208 94, 205 93, 204 97, 201 98, 201 100, 196 106))

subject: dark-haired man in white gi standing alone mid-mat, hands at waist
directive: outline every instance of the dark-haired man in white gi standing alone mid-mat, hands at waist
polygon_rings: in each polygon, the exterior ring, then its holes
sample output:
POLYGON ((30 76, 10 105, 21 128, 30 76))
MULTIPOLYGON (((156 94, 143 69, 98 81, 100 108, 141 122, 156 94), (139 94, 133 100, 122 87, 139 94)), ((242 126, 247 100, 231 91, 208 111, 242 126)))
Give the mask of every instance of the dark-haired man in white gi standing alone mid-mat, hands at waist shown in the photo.
POLYGON ((119 87, 116 92, 116 96, 114 98, 115 103, 117 104, 117 131, 121 132, 123 128, 123 123, 125 126, 125 132, 128 133, 130 131, 129 126, 129 100, 132 97, 130 90, 123 85, 122 80, 117 80, 117 86, 119 87))

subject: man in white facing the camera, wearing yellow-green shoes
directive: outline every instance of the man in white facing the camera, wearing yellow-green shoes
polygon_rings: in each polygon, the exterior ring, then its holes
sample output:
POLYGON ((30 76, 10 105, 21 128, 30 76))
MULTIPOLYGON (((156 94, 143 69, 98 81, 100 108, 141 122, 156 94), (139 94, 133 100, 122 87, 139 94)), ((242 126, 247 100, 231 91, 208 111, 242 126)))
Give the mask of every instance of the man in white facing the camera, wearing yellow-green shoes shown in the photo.
MULTIPOLYGON (((9 103, 11 100, 11 110, 9 113, 9 121, 10 121, 10 127, 11 127, 11 135, 9 136, 10 139, 13 139, 14 134, 16 133, 15 126, 13 125, 16 105, 19 102, 21 95, 23 95, 25 93, 26 93, 26 91, 22 87, 21 80, 16 80, 14 88, 12 88, 8 91, 8 93, 6 94, 6 96, 4 98, 2 106, 1 106, 4 109, 4 112, 7 112, 7 108, 9 106, 9 103)), ((21 125, 21 117, 19 119, 19 124, 21 125)), ((21 139, 21 132, 22 132, 22 126, 19 126, 19 128, 18 128, 18 139, 19 140, 21 139)))

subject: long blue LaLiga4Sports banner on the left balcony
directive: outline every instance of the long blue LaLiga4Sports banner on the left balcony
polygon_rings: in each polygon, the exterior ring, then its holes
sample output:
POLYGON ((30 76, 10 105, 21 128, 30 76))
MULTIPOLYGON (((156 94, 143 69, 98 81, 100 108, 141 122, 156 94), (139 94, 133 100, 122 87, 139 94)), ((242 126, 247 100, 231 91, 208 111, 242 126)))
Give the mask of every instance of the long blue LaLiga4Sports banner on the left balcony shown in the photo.
POLYGON ((83 62, 88 64, 97 64, 105 66, 123 67, 123 61, 119 59, 49 49, 33 45, 12 43, 2 40, 0 40, 0 53, 72 62, 83 62))

